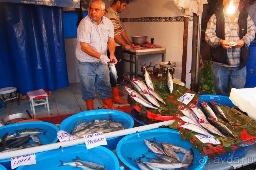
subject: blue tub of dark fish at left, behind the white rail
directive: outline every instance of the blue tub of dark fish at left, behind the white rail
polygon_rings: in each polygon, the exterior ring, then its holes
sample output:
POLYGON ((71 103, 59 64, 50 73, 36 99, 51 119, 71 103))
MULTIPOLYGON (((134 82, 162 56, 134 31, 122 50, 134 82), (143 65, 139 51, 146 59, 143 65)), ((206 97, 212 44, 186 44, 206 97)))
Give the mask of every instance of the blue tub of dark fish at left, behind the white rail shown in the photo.
MULTIPOLYGON (((47 131, 45 135, 39 134, 37 137, 40 139, 40 142, 44 145, 50 144, 50 143, 56 143, 58 141, 57 138, 57 131, 59 131, 59 128, 51 123, 48 122, 40 122, 40 121, 30 121, 30 122, 21 122, 21 123, 15 123, 15 124, 9 124, 0 127, 0 137, 2 138, 5 133, 15 133, 16 130, 22 130, 22 129, 34 129, 39 128, 42 129, 41 132, 47 131)), ((29 142, 33 143, 33 140, 31 139, 29 142)), ((0 164, 6 167, 7 169, 11 169, 11 163, 10 159, 4 159, 0 160, 0 164)))

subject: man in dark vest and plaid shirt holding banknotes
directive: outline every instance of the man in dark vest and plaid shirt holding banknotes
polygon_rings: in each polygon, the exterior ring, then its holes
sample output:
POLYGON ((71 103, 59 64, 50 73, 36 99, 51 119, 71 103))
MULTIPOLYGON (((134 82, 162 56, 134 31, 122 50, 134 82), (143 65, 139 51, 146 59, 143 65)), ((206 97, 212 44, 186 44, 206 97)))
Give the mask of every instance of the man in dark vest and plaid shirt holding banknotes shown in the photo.
POLYGON ((207 23, 206 42, 212 46, 212 76, 215 92, 229 96, 230 88, 244 88, 248 46, 255 37, 255 25, 245 11, 239 11, 240 0, 233 1, 234 13, 228 14, 229 0, 215 11, 207 23))

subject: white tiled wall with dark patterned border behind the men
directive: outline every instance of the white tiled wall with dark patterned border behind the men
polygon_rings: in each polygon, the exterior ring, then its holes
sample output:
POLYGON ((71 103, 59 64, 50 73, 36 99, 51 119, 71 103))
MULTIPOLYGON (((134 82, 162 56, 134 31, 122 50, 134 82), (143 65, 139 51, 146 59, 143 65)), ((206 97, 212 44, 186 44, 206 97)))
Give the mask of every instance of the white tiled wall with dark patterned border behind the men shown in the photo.
MULTIPOLYGON (((174 77, 181 79, 184 12, 179 11, 170 0, 132 0, 120 14, 122 25, 131 40, 133 35, 146 35, 148 41, 154 38, 154 44, 166 48, 166 61, 177 63, 174 77)), ((188 22, 186 87, 190 88, 192 58, 192 17, 188 22)), ((69 82, 79 82, 76 73, 75 58, 76 39, 65 39, 69 82), (72 53, 72 54, 71 54, 72 53)), ((129 59, 128 54, 126 58, 129 59)), ((158 64, 161 54, 143 55, 139 64, 158 64)), ((159 66, 159 65, 158 65, 159 66)), ((125 62, 124 72, 129 71, 129 63, 125 62)), ((141 69, 139 69, 141 74, 141 69)))

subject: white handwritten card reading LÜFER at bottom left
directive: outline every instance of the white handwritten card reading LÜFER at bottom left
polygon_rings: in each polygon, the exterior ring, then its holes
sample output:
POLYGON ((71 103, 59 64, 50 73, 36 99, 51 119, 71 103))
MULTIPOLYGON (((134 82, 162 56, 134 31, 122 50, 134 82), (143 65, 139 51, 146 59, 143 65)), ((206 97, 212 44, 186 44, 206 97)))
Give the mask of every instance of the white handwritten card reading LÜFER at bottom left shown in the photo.
POLYGON ((11 158, 11 169, 22 165, 33 165, 36 164, 36 154, 29 154, 11 158))

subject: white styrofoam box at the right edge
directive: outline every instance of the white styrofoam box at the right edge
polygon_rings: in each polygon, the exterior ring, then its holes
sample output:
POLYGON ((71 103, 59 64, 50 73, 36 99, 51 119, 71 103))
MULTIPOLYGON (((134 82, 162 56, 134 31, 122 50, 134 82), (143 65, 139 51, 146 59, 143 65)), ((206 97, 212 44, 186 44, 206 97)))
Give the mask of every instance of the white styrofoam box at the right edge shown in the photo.
POLYGON ((256 88, 232 88, 229 99, 250 118, 256 120, 256 88))

